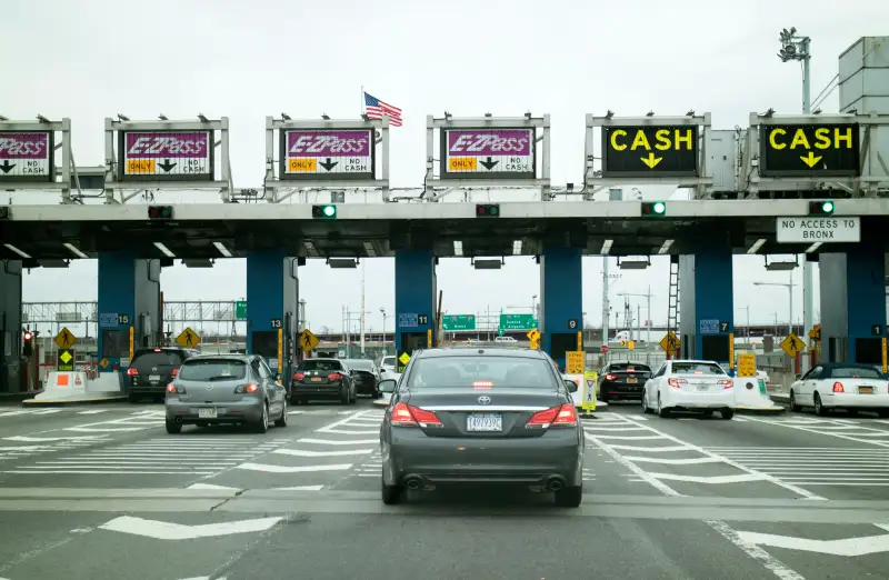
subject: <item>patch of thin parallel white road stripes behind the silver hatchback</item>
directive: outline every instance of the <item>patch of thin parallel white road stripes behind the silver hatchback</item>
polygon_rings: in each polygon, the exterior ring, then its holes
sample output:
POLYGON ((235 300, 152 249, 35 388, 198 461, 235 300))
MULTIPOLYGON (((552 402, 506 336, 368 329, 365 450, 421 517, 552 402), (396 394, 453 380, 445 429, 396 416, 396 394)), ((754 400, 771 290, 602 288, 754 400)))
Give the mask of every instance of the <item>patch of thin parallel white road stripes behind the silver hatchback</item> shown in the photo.
POLYGON ((249 437, 157 438, 38 460, 6 473, 211 476, 286 442, 249 437))

